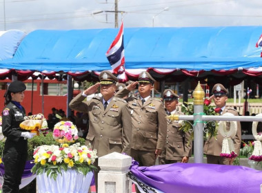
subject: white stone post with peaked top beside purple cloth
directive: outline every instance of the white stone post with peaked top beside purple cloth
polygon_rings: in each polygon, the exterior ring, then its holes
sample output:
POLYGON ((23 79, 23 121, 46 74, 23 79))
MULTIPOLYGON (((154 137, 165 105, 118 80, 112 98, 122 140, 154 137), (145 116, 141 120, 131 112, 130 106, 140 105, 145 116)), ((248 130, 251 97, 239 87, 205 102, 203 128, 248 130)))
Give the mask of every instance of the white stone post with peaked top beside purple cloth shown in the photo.
POLYGON ((126 176, 132 165, 130 156, 113 152, 99 157, 98 193, 131 193, 132 181, 126 176))

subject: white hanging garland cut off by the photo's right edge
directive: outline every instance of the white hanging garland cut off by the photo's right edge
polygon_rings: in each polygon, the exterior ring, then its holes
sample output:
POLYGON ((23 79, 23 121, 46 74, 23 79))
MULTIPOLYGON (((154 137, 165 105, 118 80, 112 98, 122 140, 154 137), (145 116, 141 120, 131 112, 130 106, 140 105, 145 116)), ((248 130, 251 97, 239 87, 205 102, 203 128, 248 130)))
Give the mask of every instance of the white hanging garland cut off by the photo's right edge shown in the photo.
MULTIPOLYGON (((262 116, 262 114, 256 114, 256 116, 262 116)), ((262 161, 262 135, 257 133, 257 125, 259 124, 258 121, 253 121, 252 123, 252 134, 254 136, 254 151, 252 152, 252 156, 250 156, 250 160, 254 161, 262 161)))

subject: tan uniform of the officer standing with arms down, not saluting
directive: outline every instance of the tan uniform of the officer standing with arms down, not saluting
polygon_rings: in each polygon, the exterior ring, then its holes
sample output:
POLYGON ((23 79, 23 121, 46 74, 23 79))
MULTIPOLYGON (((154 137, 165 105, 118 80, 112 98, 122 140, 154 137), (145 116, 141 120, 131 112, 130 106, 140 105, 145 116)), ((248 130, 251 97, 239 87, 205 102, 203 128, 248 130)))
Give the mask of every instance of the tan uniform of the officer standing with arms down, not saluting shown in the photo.
MULTIPOLYGON (((174 114, 183 113, 176 110, 174 114)), ((161 156, 159 156, 159 164, 181 162, 184 156, 190 157, 192 154, 190 133, 179 130, 182 126, 179 121, 167 119, 167 124, 166 144, 161 156)))

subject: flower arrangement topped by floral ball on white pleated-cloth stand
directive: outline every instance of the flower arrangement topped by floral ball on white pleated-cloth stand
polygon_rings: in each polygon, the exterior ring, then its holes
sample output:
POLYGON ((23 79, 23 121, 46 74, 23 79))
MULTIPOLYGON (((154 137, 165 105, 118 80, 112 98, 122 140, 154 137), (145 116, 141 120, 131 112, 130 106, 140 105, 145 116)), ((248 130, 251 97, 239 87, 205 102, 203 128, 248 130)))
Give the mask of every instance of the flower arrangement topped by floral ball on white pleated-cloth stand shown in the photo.
POLYGON ((52 137, 60 145, 41 145, 34 148, 39 193, 88 192, 97 159, 97 150, 91 145, 74 143, 78 139, 77 127, 70 121, 54 125, 52 137), (74 143, 69 145, 70 143, 74 143), (70 182, 70 183, 69 183, 70 182))

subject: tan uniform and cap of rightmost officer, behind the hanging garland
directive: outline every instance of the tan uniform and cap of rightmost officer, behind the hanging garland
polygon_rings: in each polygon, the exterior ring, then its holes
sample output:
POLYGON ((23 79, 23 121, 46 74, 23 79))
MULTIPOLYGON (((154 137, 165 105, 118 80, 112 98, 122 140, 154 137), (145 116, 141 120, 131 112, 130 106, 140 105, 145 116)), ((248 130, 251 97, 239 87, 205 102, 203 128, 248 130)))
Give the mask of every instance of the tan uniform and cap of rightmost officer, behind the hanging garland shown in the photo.
MULTIPOLYGON (((220 85, 221 89, 225 90, 223 85, 221 84, 216 84, 216 85, 220 85)), ((216 85, 214 85, 214 88, 216 87, 216 85)), ((227 90, 225 90, 225 92, 227 92, 227 90)), ((227 112, 234 114, 234 116, 239 116, 236 110, 227 107, 224 108, 221 114, 225 114, 227 112)), ((237 123, 236 136, 232 140, 234 142, 234 150, 236 154, 239 155, 240 148, 241 148, 241 125, 239 121, 237 121, 236 123, 237 123)), ((230 130, 230 123, 227 123, 227 130, 230 130)), ((230 159, 220 156, 222 151, 222 142, 223 142, 223 136, 219 132, 218 135, 216 136, 216 139, 214 139, 214 137, 211 137, 207 141, 205 141, 203 152, 204 154, 207 155, 208 163, 223 164, 223 165, 230 164, 230 159)))

